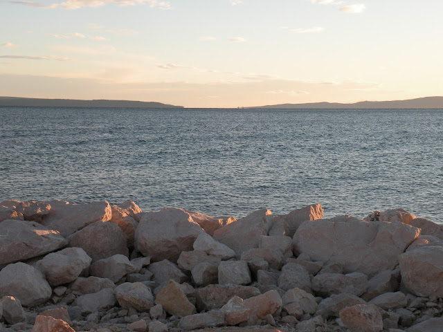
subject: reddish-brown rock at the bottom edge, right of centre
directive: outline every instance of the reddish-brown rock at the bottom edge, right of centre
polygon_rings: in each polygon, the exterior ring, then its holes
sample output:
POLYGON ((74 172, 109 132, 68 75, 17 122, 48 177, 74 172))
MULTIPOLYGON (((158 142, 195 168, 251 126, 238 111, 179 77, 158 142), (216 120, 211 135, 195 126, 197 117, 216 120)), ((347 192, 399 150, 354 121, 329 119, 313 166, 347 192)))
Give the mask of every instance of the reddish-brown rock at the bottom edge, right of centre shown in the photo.
POLYGON ((383 320, 374 304, 356 304, 340 311, 340 319, 351 332, 380 332, 383 320))

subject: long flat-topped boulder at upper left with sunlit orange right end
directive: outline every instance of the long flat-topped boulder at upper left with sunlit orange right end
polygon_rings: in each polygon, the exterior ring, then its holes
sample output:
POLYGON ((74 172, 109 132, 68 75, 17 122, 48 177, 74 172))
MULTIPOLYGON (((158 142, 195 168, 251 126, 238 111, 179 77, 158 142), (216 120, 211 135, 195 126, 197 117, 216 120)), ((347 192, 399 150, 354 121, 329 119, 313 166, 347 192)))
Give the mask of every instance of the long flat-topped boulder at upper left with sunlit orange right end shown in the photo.
POLYGON ((70 204, 66 201, 47 203, 51 205, 51 210, 43 217, 42 224, 51 230, 58 230, 64 237, 91 223, 111 220, 111 206, 107 201, 89 204, 70 204))

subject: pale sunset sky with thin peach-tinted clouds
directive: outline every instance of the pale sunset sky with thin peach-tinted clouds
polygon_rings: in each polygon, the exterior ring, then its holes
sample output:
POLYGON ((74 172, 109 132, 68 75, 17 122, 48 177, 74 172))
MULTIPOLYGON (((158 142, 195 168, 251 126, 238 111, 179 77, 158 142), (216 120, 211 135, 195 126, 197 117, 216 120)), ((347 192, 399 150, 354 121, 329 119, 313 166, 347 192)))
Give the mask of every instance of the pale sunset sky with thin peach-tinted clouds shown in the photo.
POLYGON ((184 107, 443 95, 440 0, 0 0, 0 95, 184 107))

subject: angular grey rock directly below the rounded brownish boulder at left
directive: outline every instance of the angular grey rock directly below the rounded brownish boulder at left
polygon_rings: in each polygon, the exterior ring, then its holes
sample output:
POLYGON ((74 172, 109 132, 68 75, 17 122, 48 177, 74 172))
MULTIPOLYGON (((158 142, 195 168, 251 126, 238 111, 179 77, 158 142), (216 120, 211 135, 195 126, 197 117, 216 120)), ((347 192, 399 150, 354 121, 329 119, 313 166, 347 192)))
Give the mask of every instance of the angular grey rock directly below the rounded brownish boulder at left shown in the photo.
POLYGON ((112 282, 118 282, 128 273, 136 270, 129 259, 124 255, 114 255, 100 259, 91 265, 91 275, 94 277, 107 278, 112 282))

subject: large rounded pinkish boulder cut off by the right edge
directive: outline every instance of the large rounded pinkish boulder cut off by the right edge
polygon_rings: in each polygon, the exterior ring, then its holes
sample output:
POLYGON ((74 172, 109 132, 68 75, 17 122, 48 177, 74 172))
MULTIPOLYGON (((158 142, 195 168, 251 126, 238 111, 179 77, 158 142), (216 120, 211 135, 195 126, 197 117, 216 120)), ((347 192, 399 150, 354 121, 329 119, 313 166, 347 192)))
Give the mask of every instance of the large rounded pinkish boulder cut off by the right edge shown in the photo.
POLYGON ((443 297, 443 246, 422 246, 399 256, 401 281, 418 296, 443 297))

